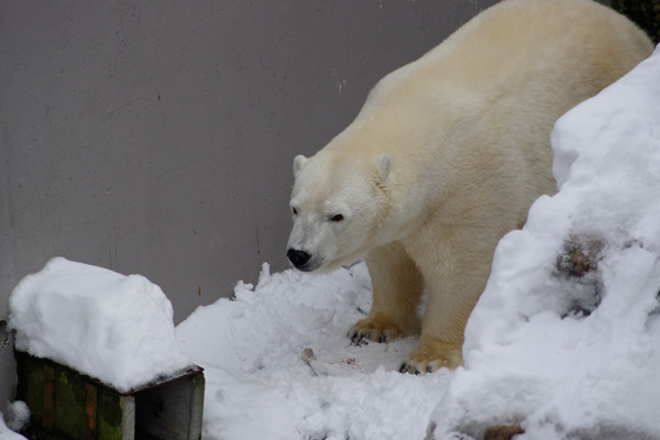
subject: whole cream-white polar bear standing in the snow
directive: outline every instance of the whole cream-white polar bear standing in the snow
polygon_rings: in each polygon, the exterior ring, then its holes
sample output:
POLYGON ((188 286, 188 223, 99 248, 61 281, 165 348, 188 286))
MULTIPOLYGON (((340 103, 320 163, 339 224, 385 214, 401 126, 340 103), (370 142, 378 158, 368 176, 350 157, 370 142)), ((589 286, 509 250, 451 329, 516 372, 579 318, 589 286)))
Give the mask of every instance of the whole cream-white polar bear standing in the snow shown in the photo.
POLYGON ((505 0, 383 78, 343 132, 294 160, 287 256, 322 273, 366 261, 353 343, 421 331, 402 372, 462 364, 494 249, 556 193, 550 131, 652 52, 591 0, 505 0), (422 290, 428 302, 420 319, 422 290))

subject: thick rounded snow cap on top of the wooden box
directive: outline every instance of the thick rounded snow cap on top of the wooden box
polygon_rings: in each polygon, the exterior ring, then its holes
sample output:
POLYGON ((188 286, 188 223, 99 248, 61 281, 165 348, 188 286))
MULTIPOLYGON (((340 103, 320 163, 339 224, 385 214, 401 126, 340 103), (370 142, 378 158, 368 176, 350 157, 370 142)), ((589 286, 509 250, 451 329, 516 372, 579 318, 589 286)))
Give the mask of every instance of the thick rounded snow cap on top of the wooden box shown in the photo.
POLYGON ((120 392, 190 365, 176 343, 172 305, 140 275, 51 260, 11 294, 15 346, 120 392))

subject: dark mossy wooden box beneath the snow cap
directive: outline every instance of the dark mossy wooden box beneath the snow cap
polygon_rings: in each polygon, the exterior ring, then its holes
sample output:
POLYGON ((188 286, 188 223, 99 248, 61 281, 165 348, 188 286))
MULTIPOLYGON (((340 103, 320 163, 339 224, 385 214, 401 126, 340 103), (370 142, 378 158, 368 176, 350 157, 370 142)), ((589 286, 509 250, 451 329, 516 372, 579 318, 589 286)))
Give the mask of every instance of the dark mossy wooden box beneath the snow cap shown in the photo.
POLYGON ((193 365, 174 377, 119 392, 47 359, 16 351, 16 398, 30 407, 30 439, 196 440, 205 380, 193 365))

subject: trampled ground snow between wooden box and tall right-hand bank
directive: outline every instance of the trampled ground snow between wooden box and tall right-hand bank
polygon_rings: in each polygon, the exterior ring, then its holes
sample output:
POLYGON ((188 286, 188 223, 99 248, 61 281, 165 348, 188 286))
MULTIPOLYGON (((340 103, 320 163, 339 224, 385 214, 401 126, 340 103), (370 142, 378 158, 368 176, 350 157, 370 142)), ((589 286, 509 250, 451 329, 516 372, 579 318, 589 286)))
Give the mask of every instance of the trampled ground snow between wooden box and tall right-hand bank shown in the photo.
POLYGON ((264 265, 256 287, 198 308, 176 332, 205 367, 204 438, 424 438, 451 375, 398 373, 414 338, 350 345, 370 306, 364 264, 317 276, 264 265))

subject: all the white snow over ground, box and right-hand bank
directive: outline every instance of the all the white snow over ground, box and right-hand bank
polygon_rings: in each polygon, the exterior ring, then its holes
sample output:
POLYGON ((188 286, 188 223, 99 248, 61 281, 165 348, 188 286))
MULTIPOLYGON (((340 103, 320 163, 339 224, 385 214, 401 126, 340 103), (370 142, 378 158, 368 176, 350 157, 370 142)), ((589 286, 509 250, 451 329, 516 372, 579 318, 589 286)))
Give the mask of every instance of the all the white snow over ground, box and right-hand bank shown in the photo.
POLYGON ((123 388, 190 359, 206 440, 480 439, 493 425, 519 425, 517 440, 660 438, 658 78, 660 48, 558 121, 560 191, 497 246, 455 372, 396 372, 416 338, 350 345, 371 304, 362 263, 265 264, 175 330, 145 278, 55 258, 12 294, 16 344, 123 388))

